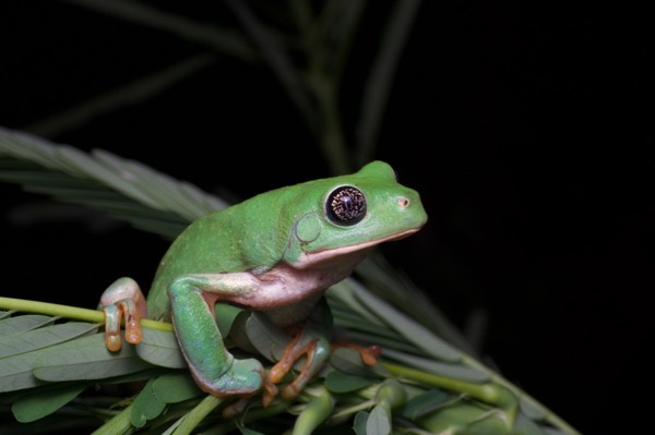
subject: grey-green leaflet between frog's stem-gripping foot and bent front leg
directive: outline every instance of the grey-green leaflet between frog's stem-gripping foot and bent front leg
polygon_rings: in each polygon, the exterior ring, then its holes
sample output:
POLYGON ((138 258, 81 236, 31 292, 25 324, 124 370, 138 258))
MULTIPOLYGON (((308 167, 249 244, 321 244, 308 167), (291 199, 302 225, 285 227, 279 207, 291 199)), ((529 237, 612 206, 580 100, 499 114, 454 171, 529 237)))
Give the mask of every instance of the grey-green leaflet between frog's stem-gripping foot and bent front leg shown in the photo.
POLYGON ((186 368, 187 361, 175 333, 142 328, 143 339, 136 345, 136 354, 151 364, 169 368, 186 368))

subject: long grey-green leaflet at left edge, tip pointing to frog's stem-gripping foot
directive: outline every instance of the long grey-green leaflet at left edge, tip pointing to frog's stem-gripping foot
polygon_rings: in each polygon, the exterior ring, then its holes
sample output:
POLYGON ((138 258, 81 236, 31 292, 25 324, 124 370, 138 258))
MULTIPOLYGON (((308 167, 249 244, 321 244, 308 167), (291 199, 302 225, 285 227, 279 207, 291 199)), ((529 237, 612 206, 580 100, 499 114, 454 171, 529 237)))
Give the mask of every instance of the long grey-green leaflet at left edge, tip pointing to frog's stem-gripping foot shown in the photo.
POLYGON ((97 329, 97 325, 69 322, 0 337, 0 359, 47 348, 97 329))

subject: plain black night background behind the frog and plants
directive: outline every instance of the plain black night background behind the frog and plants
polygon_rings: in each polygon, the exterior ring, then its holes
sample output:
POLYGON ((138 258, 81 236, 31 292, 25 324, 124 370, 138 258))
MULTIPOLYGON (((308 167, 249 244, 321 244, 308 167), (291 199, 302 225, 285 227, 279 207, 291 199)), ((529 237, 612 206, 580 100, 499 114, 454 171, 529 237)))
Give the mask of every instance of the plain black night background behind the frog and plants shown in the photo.
MULTIPOLYGON (((236 22, 221 2, 158 4, 236 22)), ((355 39, 340 94, 349 141, 391 4, 370 2, 355 39)), ((382 251, 460 327, 473 313, 486 318, 488 361, 590 434, 624 433, 643 415, 628 412, 638 400, 627 385, 647 377, 648 343, 634 337, 653 288, 641 281, 652 262, 639 249, 652 235, 641 153, 653 145, 641 108, 652 106, 652 47, 645 14, 604 8, 424 2, 376 154, 421 193, 430 217, 382 251)), ((10 129, 206 51, 67 2, 2 2, 0 24, 0 125, 10 129)), ((48 138, 109 149, 235 201, 330 174, 272 74, 229 57, 48 138)), ((94 306, 119 276, 148 282, 166 250, 98 216, 38 212, 49 203, 14 185, 0 184, 0 198, 3 295, 94 306)))

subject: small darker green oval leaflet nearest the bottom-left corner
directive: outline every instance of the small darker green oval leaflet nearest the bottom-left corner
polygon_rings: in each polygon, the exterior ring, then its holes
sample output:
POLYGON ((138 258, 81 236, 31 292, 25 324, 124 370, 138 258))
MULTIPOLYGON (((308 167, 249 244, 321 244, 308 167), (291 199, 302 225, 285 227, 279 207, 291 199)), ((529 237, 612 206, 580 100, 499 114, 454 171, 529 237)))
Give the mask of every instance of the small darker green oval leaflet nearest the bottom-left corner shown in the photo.
POLYGON ((21 423, 34 422, 59 410, 78 397, 86 384, 62 385, 19 397, 11 410, 21 423))

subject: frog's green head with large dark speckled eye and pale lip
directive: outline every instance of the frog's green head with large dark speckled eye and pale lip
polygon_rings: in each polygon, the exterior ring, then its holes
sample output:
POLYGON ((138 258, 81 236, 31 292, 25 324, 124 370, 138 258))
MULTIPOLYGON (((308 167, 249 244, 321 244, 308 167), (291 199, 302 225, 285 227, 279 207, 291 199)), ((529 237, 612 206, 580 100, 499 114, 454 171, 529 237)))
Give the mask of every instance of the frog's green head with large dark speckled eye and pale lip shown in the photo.
POLYGON ((299 184, 285 262, 297 268, 338 262, 418 231, 428 217, 416 191, 385 162, 359 172, 299 184))

